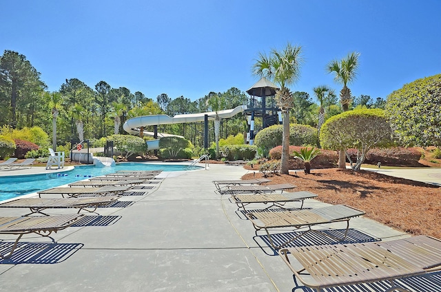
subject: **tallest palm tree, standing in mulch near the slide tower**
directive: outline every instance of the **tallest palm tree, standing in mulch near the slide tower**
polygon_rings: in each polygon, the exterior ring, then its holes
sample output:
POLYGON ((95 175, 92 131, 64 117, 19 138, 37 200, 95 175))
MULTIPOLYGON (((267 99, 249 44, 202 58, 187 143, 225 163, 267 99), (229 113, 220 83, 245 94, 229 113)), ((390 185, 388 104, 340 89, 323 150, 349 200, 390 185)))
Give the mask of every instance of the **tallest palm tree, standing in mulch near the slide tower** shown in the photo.
POLYGON ((276 91, 277 105, 283 113, 282 162, 280 172, 289 172, 289 110, 294 106, 293 96, 288 89, 300 77, 300 66, 303 63, 302 47, 287 43, 282 51, 271 49, 269 56, 259 54, 252 72, 256 76, 273 80, 280 86, 276 91))

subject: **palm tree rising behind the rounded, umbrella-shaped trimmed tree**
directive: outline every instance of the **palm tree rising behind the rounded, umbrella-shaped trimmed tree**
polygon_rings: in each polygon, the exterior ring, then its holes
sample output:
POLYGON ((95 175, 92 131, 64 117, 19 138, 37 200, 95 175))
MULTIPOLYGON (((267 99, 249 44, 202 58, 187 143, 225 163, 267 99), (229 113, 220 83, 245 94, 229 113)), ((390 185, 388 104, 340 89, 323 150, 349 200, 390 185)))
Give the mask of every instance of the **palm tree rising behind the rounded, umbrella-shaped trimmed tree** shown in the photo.
MULTIPOLYGON (((351 52, 342 60, 332 60, 326 67, 328 73, 334 73, 334 80, 343 85, 340 91, 340 102, 343 111, 349 109, 351 102, 351 89, 347 87, 353 80, 355 80, 358 71, 358 57, 360 53, 351 52)), ((345 152, 340 150, 338 157, 338 168, 346 168, 345 152)))

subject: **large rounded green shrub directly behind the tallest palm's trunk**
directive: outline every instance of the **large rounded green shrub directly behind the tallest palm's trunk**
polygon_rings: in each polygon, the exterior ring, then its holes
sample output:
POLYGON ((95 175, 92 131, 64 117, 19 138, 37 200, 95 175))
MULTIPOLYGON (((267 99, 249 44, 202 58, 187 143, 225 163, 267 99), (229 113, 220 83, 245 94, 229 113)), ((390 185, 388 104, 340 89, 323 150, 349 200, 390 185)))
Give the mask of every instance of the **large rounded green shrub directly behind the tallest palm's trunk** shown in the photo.
MULTIPOLYGON (((267 157, 269 150, 282 145, 283 125, 269 126, 260 130, 254 139, 254 144, 259 149, 259 155, 267 157)), ((289 144, 295 146, 318 145, 318 131, 309 125, 290 124, 289 144)))

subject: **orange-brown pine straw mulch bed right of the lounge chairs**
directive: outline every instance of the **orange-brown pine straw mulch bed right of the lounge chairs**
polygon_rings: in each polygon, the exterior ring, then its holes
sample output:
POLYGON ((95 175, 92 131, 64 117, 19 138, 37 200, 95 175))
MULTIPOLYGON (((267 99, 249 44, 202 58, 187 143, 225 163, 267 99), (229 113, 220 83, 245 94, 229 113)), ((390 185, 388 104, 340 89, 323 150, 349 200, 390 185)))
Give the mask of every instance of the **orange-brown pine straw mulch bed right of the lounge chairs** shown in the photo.
MULTIPOLYGON (((249 169, 249 168, 248 168, 249 169)), ((418 171, 418 170, 416 170, 418 171)), ((274 183, 292 183, 293 190, 318 194, 318 200, 364 210, 365 216, 413 235, 441 238, 441 188, 427 183, 389 177, 376 172, 336 168, 289 172, 268 177, 274 183)), ((258 172, 242 179, 263 177, 258 172)))

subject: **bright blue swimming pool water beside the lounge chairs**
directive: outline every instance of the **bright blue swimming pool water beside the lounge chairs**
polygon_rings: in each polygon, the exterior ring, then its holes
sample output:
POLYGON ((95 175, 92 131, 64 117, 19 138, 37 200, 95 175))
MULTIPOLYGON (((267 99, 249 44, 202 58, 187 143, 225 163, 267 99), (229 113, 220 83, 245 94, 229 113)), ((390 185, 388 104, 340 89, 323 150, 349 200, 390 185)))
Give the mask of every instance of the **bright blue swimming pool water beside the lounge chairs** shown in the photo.
MULTIPOLYGON (((200 169, 199 166, 192 166, 190 170, 200 169)), ((142 164, 142 163, 121 163, 112 167, 99 168, 95 166, 75 166, 73 170, 63 172, 51 172, 41 175, 19 175, 11 177, 0 177, 0 201, 47 190, 57 186, 81 181, 89 177, 99 177, 119 170, 163 170, 183 171, 189 170, 184 165, 167 164, 142 164)))

